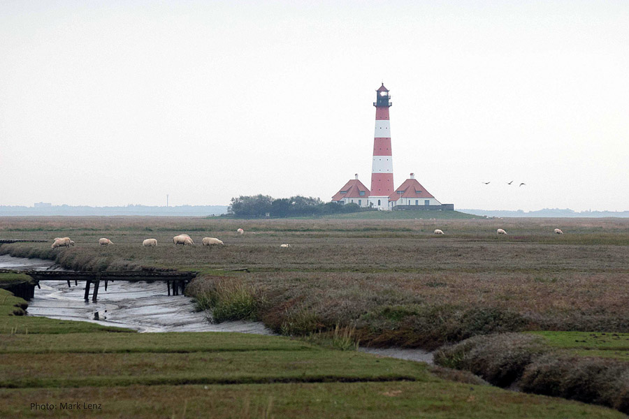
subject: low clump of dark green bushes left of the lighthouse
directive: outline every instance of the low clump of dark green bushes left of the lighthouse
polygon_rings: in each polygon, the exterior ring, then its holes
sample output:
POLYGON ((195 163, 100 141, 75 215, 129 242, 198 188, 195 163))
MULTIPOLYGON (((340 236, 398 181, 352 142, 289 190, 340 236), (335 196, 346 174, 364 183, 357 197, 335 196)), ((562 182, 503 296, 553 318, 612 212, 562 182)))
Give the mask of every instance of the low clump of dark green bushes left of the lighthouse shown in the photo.
POLYGON ((318 216, 328 214, 346 214, 367 210, 354 203, 324 203, 320 198, 291 196, 275 199, 268 195, 239 196, 231 198, 227 212, 238 218, 261 218, 288 216, 318 216))

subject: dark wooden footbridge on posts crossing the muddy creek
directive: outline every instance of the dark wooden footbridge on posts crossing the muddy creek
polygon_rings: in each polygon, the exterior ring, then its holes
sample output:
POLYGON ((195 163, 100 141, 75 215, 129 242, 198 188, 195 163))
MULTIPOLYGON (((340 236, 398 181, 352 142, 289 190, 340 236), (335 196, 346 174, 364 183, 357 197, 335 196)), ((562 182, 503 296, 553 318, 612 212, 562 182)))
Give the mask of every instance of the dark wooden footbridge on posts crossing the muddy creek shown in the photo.
POLYGON ((67 281, 68 287, 74 282, 75 286, 78 286, 79 281, 85 281, 85 300, 89 300, 89 291, 94 284, 92 290, 92 301, 96 302, 99 295, 99 287, 101 282, 104 282, 105 291, 107 291, 107 285, 111 281, 162 281, 166 282, 166 289, 168 295, 183 295, 186 286, 189 282, 196 277, 197 272, 168 272, 168 271, 130 271, 130 272, 75 272, 75 271, 13 271, 13 270, 0 270, 0 272, 15 272, 27 274, 33 280, 31 282, 20 282, 12 286, 17 293, 11 291, 13 294, 30 300, 35 295, 35 287, 41 288, 41 281, 67 281))

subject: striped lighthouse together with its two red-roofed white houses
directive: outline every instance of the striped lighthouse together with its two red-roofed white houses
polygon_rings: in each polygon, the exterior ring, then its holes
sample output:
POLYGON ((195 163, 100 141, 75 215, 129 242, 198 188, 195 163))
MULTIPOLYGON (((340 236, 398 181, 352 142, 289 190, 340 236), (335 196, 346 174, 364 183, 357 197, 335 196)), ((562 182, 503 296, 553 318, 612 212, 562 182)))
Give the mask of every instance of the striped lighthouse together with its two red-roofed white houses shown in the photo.
POLYGON ((358 179, 358 175, 343 186, 332 202, 354 203, 361 207, 379 210, 454 210, 454 204, 442 204, 426 191, 413 173, 398 189, 393 189, 393 152, 391 151, 391 123, 389 108, 391 96, 384 83, 376 91, 375 132, 371 164, 371 190, 358 179))

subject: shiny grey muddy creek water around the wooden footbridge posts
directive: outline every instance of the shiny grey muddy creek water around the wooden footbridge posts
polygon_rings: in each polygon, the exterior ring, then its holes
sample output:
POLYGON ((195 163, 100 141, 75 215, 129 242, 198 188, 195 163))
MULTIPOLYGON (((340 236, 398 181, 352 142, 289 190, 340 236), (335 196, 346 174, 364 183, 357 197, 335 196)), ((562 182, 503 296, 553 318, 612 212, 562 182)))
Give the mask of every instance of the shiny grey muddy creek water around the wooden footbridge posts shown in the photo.
MULTIPOLYGON (((0 269, 51 270, 50 260, 0 256, 0 269)), ((262 323, 231 321, 210 323, 203 312, 185 295, 168 296, 163 282, 109 282, 107 291, 101 283, 98 302, 83 300, 85 281, 78 286, 71 281, 41 281, 29 302, 29 316, 78 320, 101 325, 131 328, 140 332, 242 332, 271 335, 262 323)))

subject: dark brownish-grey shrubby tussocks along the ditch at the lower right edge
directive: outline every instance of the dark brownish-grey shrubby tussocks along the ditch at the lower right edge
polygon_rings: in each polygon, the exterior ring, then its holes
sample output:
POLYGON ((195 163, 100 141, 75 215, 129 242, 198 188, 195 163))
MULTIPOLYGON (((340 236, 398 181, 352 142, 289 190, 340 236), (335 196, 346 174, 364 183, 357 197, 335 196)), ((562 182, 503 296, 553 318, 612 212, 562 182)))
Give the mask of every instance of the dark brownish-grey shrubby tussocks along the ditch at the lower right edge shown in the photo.
POLYGON ((539 335, 472 337, 441 348, 435 363, 464 369, 489 383, 525 392, 602 404, 629 413, 629 363, 569 356, 539 335))

